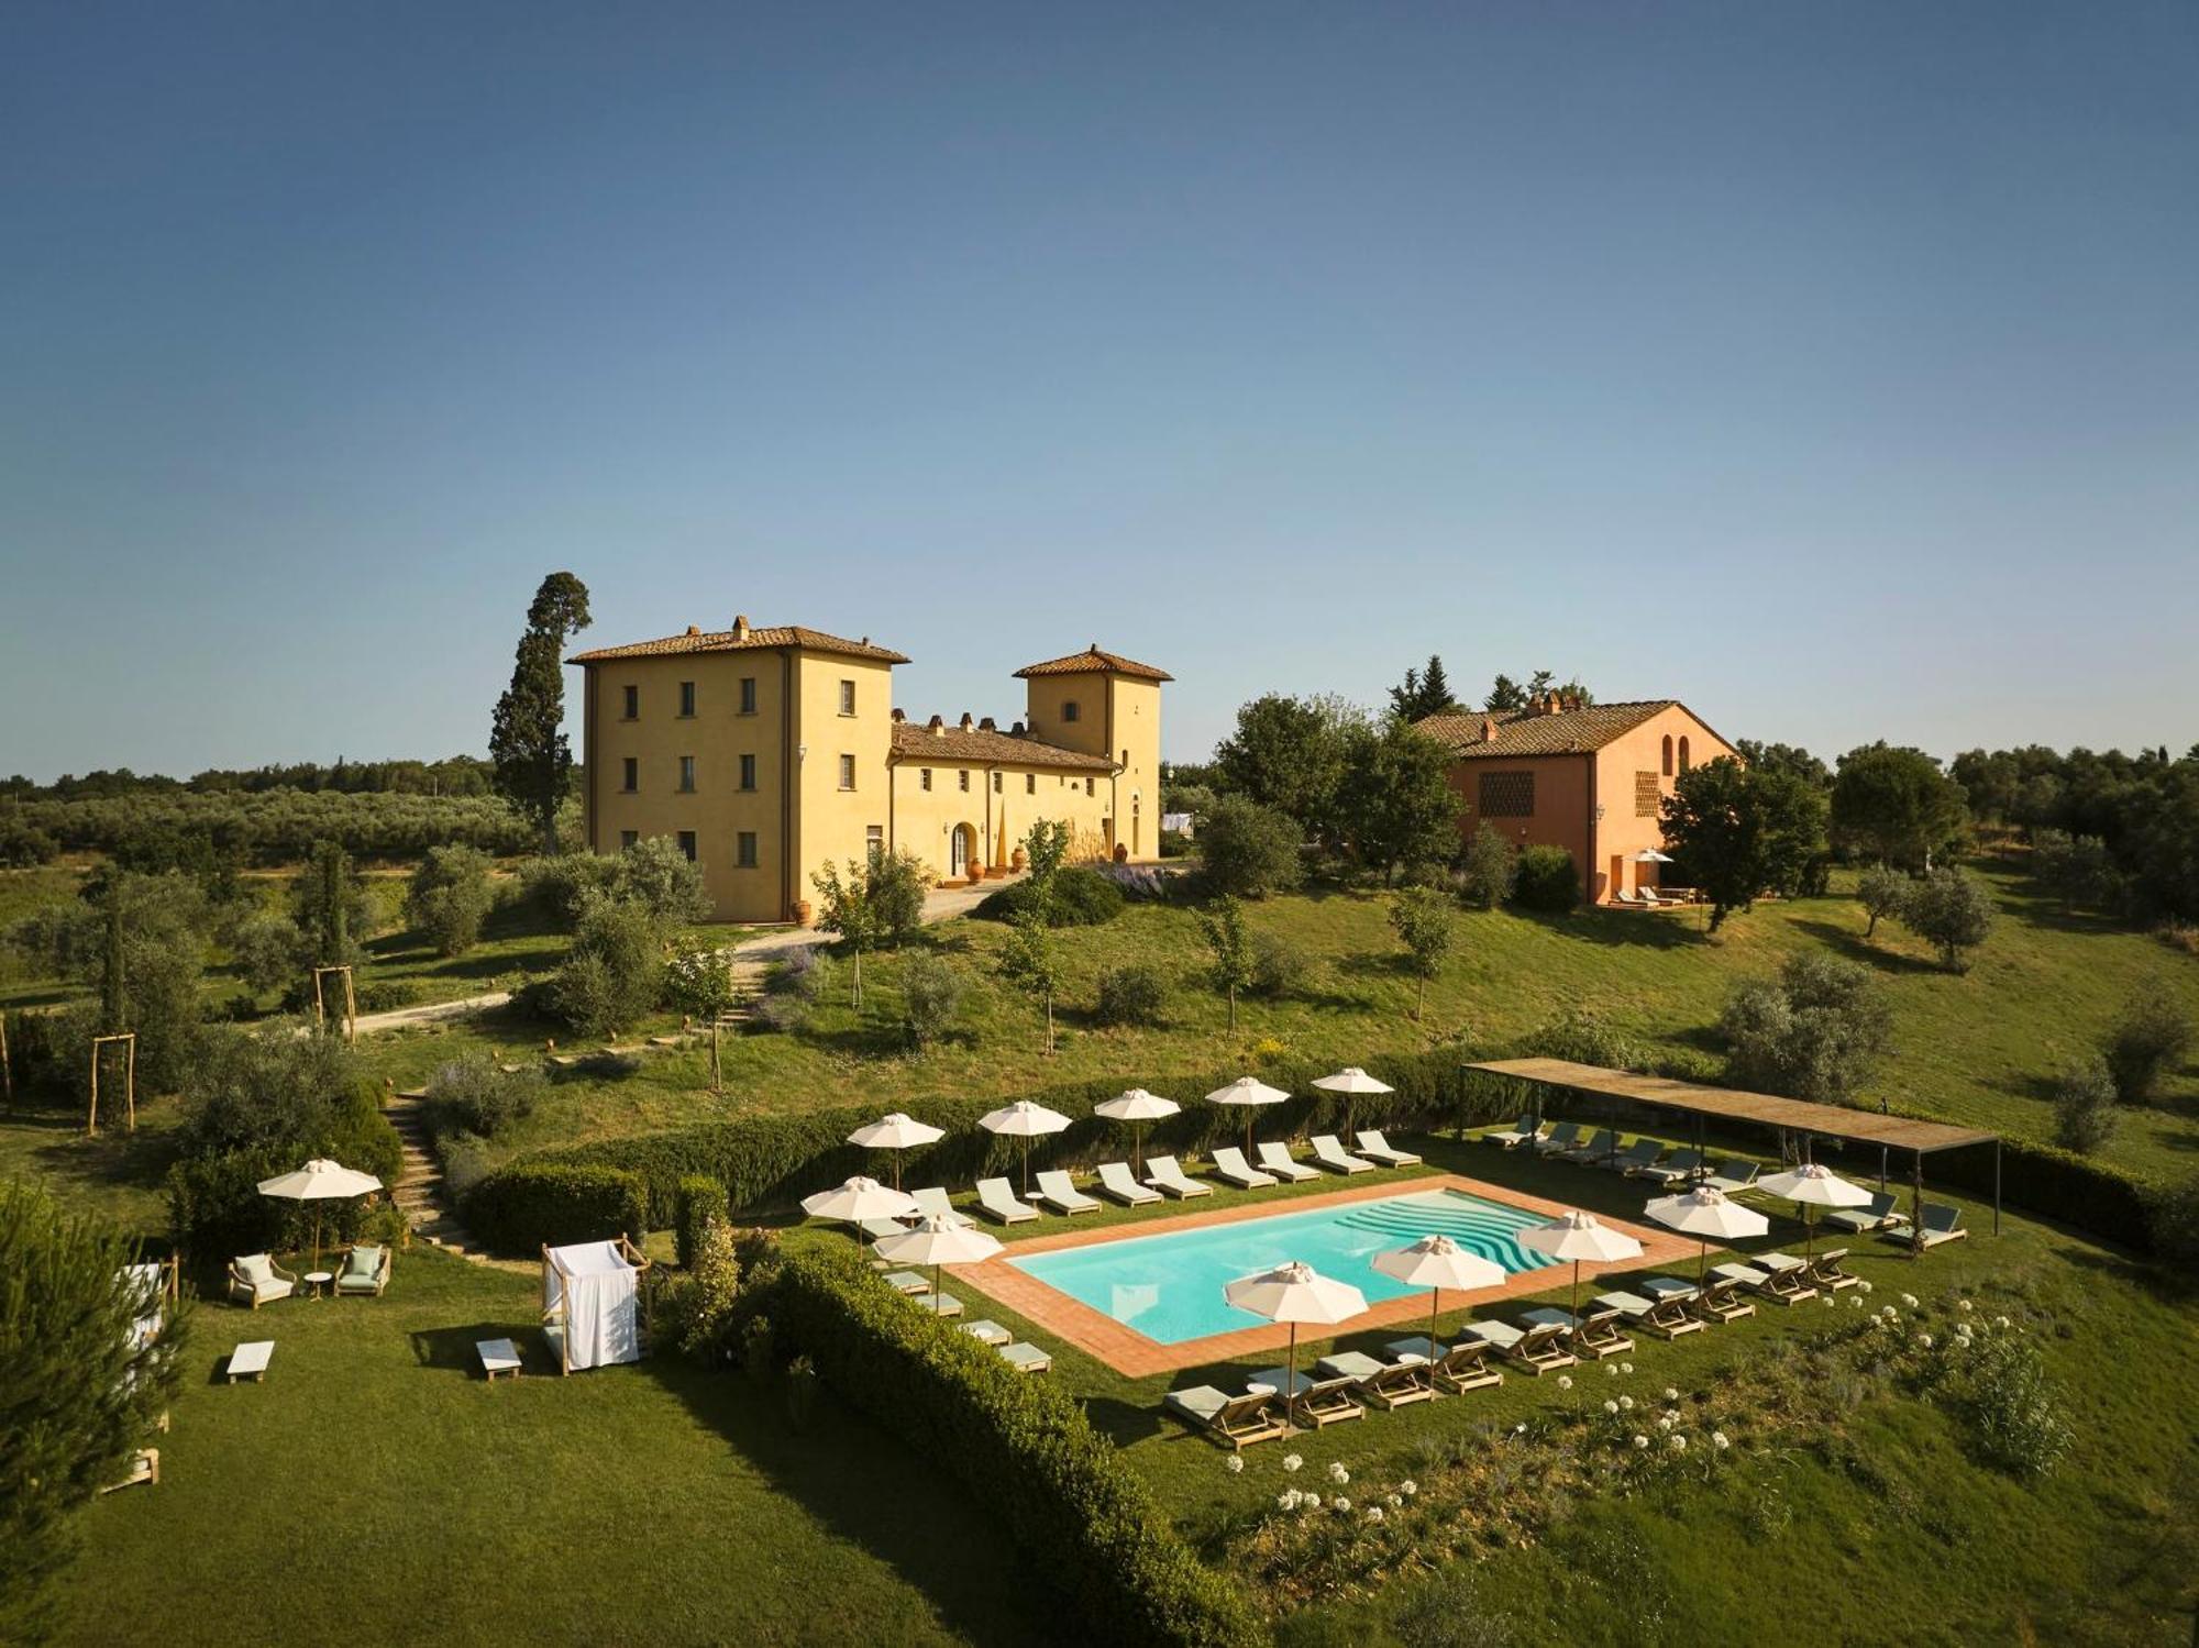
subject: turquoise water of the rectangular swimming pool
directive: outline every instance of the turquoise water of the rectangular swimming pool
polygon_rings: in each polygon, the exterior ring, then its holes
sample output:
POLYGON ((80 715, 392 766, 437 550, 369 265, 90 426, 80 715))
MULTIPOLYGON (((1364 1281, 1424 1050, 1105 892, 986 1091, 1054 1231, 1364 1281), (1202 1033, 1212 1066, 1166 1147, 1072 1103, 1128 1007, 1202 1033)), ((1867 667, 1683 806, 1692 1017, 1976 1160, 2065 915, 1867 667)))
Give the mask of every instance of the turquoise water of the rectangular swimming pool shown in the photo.
POLYGON ((1212 1224, 1203 1231, 1126 1235, 1089 1248, 1009 1257, 1007 1263, 1150 1340, 1181 1345, 1187 1338, 1256 1327, 1260 1318, 1227 1305, 1223 1288, 1286 1259, 1348 1281, 1370 1305, 1427 1292, 1392 1281, 1370 1261, 1385 1248, 1403 1248, 1438 1231, 1504 1270, 1557 1263, 1520 1246, 1520 1231, 1531 1224, 1544 1224, 1544 1215, 1465 1191, 1414 1191, 1379 1202, 1212 1224))

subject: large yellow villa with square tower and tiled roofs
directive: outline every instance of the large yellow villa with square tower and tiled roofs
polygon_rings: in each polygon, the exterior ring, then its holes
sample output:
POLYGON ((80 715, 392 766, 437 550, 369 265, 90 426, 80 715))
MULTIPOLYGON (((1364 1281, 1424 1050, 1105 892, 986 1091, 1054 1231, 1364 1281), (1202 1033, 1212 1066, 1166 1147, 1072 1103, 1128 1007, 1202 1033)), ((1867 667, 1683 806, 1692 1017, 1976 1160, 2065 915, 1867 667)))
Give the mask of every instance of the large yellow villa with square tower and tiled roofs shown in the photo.
POLYGON ((913 853, 941 881, 1003 870, 1040 820, 1071 859, 1152 859, 1165 670, 1102 650, 1029 664, 1025 719, 893 708, 902 653, 825 631, 690 626, 576 653, 594 853, 671 835, 721 921, 794 921, 811 875, 913 853))

